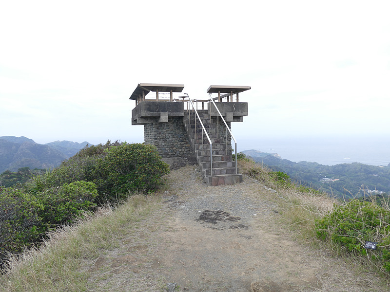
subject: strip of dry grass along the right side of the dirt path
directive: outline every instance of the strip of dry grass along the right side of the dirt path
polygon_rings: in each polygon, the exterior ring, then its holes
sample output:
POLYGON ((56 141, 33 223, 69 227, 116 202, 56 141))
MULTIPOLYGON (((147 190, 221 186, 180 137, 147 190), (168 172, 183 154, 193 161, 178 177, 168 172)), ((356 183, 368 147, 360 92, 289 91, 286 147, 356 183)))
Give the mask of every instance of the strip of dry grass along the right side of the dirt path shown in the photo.
MULTIPOLYGON (((324 255, 324 262, 332 261, 334 257, 338 257, 340 258, 340 264, 346 266, 345 271, 351 271, 350 267, 353 267, 354 275, 347 278, 343 277, 345 281, 350 281, 351 283, 351 289, 348 291, 359 291, 355 288, 359 286, 376 286, 377 290, 374 289, 372 291, 387 290, 390 285, 388 274, 384 273, 383 269, 377 267, 369 257, 351 256, 340 245, 332 241, 320 241, 316 237, 315 221, 331 213, 336 205, 345 204, 345 202, 338 201, 327 194, 318 193, 310 189, 306 189, 305 192, 300 192, 299 188, 295 188, 294 186, 281 187, 270 182, 268 174, 270 170, 261 164, 243 161, 239 162, 239 165, 243 173, 250 175, 259 182, 265 182, 266 185, 277 190, 277 192, 273 193, 273 201, 278 204, 278 211, 282 215, 281 220, 294 232, 297 239, 301 240, 302 243, 310 242, 313 247, 318 248, 319 253, 323 253, 324 255), (357 276, 361 273, 366 274, 366 276, 357 276)), ((389 205, 386 203, 382 202, 382 207, 389 210, 389 205)), ((345 291, 345 288, 340 288, 340 286, 344 285, 331 283, 336 277, 331 271, 320 273, 317 277, 327 287, 327 291, 345 291)))

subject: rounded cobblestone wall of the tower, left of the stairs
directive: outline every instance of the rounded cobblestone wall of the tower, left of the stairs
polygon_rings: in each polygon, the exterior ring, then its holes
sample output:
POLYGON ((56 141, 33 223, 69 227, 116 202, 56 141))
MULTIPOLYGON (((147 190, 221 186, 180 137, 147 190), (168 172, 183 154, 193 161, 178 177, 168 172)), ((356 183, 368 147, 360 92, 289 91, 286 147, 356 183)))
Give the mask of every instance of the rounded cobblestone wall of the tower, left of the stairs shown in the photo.
POLYGON ((195 158, 191 143, 183 125, 183 117, 169 117, 167 123, 144 125, 145 144, 155 145, 164 161, 195 158), (168 160, 167 160, 168 158, 168 160))

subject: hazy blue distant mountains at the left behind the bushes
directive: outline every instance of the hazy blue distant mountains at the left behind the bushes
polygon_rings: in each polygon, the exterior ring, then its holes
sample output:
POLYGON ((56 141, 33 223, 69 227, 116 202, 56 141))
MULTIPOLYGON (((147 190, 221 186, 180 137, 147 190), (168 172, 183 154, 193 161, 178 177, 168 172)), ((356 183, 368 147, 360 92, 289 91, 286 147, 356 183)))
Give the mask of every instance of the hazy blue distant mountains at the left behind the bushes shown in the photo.
POLYGON ((88 142, 56 141, 45 145, 26 137, 0 137, 0 173, 22 167, 53 168, 75 155, 88 142))

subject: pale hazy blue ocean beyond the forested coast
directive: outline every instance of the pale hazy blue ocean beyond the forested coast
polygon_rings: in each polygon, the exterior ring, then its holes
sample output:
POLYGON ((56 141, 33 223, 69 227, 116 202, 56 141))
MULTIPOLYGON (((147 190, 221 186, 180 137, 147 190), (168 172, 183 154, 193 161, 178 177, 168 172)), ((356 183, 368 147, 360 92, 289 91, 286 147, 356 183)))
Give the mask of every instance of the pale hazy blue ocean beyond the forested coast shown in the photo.
POLYGON ((237 151, 255 149, 277 153, 293 162, 334 165, 359 162, 376 166, 390 163, 390 137, 240 138, 237 151))

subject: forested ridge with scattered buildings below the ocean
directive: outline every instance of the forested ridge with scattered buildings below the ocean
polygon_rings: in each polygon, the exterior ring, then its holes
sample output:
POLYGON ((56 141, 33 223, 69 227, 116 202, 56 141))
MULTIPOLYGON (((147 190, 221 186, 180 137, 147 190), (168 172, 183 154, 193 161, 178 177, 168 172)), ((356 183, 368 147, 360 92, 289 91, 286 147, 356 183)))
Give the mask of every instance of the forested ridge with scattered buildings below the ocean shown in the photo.
MULTIPOLYGON (((248 153, 242 152, 246 155, 248 153)), ((255 162, 267 165, 275 171, 287 173, 292 181, 339 198, 362 197, 365 194, 389 196, 390 193, 389 166, 361 163, 323 165, 306 161, 296 163, 277 158, 273 154, 252 158, 255 162)))

